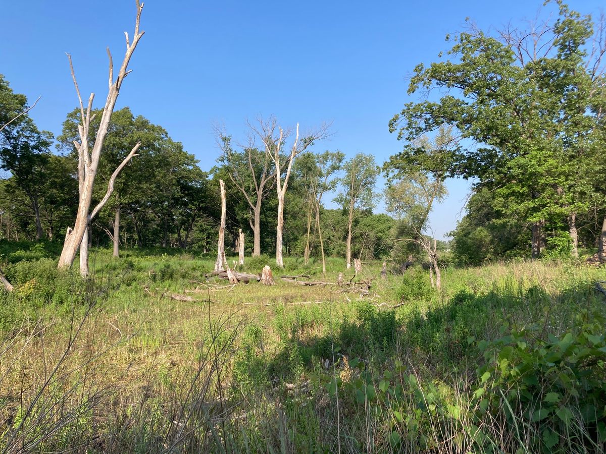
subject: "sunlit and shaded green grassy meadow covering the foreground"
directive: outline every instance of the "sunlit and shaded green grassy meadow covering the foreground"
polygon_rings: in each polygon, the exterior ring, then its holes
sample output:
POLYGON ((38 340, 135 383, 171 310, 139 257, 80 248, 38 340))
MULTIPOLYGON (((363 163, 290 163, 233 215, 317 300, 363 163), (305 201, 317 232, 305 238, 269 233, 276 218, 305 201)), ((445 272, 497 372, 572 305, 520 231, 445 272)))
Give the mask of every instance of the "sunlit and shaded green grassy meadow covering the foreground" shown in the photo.
MULTIPOLYGON (((4 270, 17 288, 0 295, 5 452, 605 447, 604 269, 447 268, 438 293, 422 269, 381 280, 368 266, 361 297, 277 278, 208 286, 213 257, 162 250, 95 250, 82 281, 37 253, 4 270)), ((341 259, 318 265, 288 257, 284 274, 353 277, 341 259)))

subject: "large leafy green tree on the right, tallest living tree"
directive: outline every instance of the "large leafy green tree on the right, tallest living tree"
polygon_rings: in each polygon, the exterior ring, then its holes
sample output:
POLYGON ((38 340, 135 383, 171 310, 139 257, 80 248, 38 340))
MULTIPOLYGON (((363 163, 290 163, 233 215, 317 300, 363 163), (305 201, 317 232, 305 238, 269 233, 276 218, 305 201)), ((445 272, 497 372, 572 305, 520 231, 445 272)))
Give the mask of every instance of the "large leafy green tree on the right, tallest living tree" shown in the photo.
POLYGON ((531 226, 533 257, 541 253, 545 219, 565 219, 576 241, 576 214, 587 208, 581 195, 591 186, 578 170, 595 126, 587 114, 596 79, 586 53, 593 29, 588 16, 557 4, 558 19, 529 33, 490 36, 470 27, 456 35, 447 60, 418 65, 408 89, 437 88, 442 96, 408 103, 390 121, 390 131, 409 143, 454 127, 458 146, 437 162, 414 146, 401 159, 476 177, 479 187, 496 191, 504 214, 531 226))

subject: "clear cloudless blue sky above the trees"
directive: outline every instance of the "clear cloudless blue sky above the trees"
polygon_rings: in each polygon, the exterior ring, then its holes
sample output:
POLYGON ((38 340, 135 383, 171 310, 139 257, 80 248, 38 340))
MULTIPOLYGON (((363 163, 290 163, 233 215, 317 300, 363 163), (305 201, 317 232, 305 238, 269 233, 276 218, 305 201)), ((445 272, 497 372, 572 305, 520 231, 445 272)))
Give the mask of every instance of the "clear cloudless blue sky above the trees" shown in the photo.
MULTIPOLYGON (((135 1, 11 0, 0 18, 0 73, 30 100, 38 126, 58 134, 76 106, 65 52, 73 56, 82 96, 107 94, 107 56, 124 53, 135 1)), ((511 1, 183 1, 145 2, 145 36, 122 86, 128 105, 162 125, 210 169, 218 156, 213 122, 233 136, 246 118, 275 114, 284 125, 333 122, 333 136, 316 151, 360 151, 378 163, 402 148, 387 122, 410 100, 406 77, 419 62, 447 50, 447 33, 470 17, 484 27, 533 19, 542 0, 511 1)), ((596 15, 601 0, 572 0, 596 15)), ((553 10, 553 5, 549 7, 553 10)), ((438 237, 451 231, 470 184, 448 182, 435 209, 438 237)), ((381 189, 381 188, 379 188, 381 189)), ((379 210, 382 205, 379 204, 379 210)))

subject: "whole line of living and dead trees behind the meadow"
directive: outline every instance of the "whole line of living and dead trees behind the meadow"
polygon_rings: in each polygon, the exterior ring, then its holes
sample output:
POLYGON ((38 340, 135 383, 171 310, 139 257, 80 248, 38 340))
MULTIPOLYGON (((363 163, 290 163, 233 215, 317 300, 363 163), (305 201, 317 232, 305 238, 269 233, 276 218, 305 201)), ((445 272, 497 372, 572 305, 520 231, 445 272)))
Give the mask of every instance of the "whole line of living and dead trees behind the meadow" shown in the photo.
MULTIPOLYGON (((225 182, 225 232, 236 250, 240 232, 253 256, 421 255, 439 286, 439 250, 430 212, 449 177, 473 179, 467 214, 452 232, 454 260, 478 265, 513 255, 578 257, 598 248, 606 260, 606 77, 604 21, 557 2, 559 15, 530 31, 482 31, 474 24, 448 37, 445 58, 419 64, 407 103, 388 123, 405 142, 378 163, 318 151, 330 125, 303 130, 273 116, 246 122, 235 137, 216 128, 219 157, 202 171, 196 157, 159 125, 125 107, 114 111, 135 33, 108 97, 85 103, 70 57, 79 107, 55 136, 40 131, 27 98, 0 75, 0 235, 64 243, 59 266, 80 251, 87 274, 90 245, 160 246, 213 252, 225 182), (53 146, 56 153, 53 152, 53 146), (376 180, 387 177, 387 214, 373 213, 376 180), (328 209, 333 197, 338 209, 328 209)), ((37 101, 36 101, 37 102, 37 101)))

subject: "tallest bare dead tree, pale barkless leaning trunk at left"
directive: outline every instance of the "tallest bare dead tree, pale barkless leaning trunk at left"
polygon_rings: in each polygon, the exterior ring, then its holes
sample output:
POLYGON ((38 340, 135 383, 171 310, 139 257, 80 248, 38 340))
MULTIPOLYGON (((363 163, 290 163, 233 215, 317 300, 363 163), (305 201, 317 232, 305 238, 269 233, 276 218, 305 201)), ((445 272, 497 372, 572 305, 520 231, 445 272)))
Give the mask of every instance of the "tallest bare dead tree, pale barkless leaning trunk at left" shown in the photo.
MULTIPOLYGON (((122 61, 122 65, 118 71, 118 77, 114 80, 113 76, 113 61, 112 54, 107 49, 107 56, 109 58, 109 77, 108 77, 108 94, 107 99, 105 100, 105 105, 103 107, 103 112, 101 114, 101 122, 99 123, 99 129, 96 132, 95 143, 93 144, 92 151, 88 150, 88 133, 90 128, 90 122, 92 120, 91 110, 93 108, 93 99, 95 97, 94 93, 90 94, 88 97, 88 106, 84 109, 84 104, 82 103, 82 97, 80 96, 80 90, 78 88, 78 82, 76 82, 76 74, 73 69, 72 57, 70 54, 67 54, 67 58, 70 62, 70 70, 72 73, 72 79, 74 82, 74 86, 76 87, 76 94, 78 94, 78 101, 80 104, 80 116, 81 116, 81 125, 78 125, 78 131, 80 134, 80 142, 74 141, 74 145, 76 147, 76 151, 78 151, 78 187, 79 187, 79 202, 78 202, 78 211, 76 214, 76 222, 74 223, 73 228, 67 229, 67 234, 65 235, 65 242, 63 245, 63 250, 61 252, 61 257, 59 257, 59 269, 67 269, 72 266, 74 258, 76 257, 76 252, 78 252, 78 248, 81 248, 81 245, 88 240, 85 239, 85 235, 87 235, 88 225, 90 224, 90 220, 101 211, 101 208, 107 203, 107 200, 110 198, 113 192, 114 182, 118 174, 127 165, 128 161, 132 159, 133 156, 136 156, 135 153, 138 150, 139 146, 141 146, 141 142, 138 142, 133 149, 128 153, 128 155, 124 158, 122 163, 116 168, 113 172, 110 180, 108 181, 107 191, 105 192, 105 196, 101 199, 101 202, 91 211, 90 203, 93 196, 93 186, 95 184, 95 177, 97 175, 97 168, 99 165, 99 158, 101 157, 101 151, 103 148, 103 142, 105 140, 105 136, 107 136, 107 130, 110 123, 110 119, 112 118, 113 109, 116 105, 116 99, 118 99, 118 94, 120 92, 120 88, 122 87, 122 82, 124 82, 124 78, 130 73, 128 70, 128 63, 130 62, 131 57, 133 56, 133 52, 139 43, 139 39, 144 34, 144 31, 139 31, 139 21, 141 19, 141 12, 143 10, 143 4, 139 3, 139 0, 136 0, 137 5, 137 15, 135 20, 135 33, 133 35, 133 41, 131 42, 128 38, 128 33, 124 33, 126 36, 126 53, 124 55, 124 60, 122 61), (84 241, 85 240, 85 241, 84 241)), ((81 259, 81 274, 84 276, 88 273, 88 255, 87 248, 84 247, 81 251, 81 255, 84 257, 81 259), (85 264, 85 266, 83 266, 85 264)))

